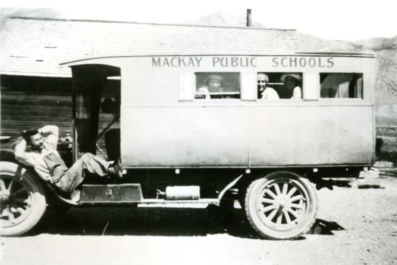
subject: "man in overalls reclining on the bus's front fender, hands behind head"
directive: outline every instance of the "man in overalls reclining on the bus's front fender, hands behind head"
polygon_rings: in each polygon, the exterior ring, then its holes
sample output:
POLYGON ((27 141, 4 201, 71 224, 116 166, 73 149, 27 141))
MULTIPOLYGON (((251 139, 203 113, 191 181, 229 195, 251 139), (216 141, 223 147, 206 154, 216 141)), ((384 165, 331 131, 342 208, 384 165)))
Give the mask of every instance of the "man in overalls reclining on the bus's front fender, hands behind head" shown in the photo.
POLYGON ((75 201, 79 200, 76 187, 83 182, 86 171, 100 177, 123 177, 119 163, 111 165, 110 162, 90 153, 83 154, 68 169, 56 150, 58 143, 56 126, 47 125, 39 130, 28 130, 23 133, 22 138, 15 145, 15 158, 26 166, 34 167, 42 179, 54 184, 75 201), (46 139, 43 139, 42 134, 48 135, 46 139), (27 146, 31 149, 28 152, 26 152, 27 146))

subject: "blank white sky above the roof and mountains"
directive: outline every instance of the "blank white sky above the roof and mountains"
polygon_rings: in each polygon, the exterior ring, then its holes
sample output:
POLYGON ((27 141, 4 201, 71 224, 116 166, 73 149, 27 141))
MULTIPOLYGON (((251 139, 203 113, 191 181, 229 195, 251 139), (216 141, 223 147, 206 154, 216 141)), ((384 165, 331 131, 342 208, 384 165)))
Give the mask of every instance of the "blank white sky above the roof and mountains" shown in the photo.
POLYGON ((358 41, 371 37, 397 35, 397 1, 357 0, 276 0, 244 1, 67 1, 67 6, 37 0, 33 2, 8 0, 1 7, 59 8, 70 19, 101 19, 152 23, 178 23, 197 19, 217 10, 246 16, 252 9, 252 19, 272 28, 293 28, 302 33, 330 40, 358 41), (34 3, 34 5, 33 5, 34 3), (238 3, 234 1, 234 3, 238 3))

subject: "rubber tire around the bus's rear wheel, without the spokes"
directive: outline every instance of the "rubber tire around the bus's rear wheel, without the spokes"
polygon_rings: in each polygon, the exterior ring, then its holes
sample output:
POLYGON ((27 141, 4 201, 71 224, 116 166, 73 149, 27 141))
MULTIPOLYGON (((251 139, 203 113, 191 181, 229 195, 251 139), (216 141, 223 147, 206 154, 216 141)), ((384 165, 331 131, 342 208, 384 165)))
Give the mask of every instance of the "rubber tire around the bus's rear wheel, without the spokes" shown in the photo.
POLYGON ((254 180, 247 188, 245 198, 245 212, 249 223, 252 228, 262 237, 272 240, 289 240, 299 237, 300 235, 307 233, 316 221, 318 200, 317 193, 315 192, 312 183, 296 173, 289 171, 277 171, 267 174, 259 179, 254 180), (308 203, 308 211, 304 219, 299 222, 295 228, 287 231, 277 231, 269 226, 265 225, 257 214, 255 206, 255 195, 259 192, 259 189, 263 185, 271 180, 277 178, 291 178, 298 181, 306 190, 310 202, 308 203))

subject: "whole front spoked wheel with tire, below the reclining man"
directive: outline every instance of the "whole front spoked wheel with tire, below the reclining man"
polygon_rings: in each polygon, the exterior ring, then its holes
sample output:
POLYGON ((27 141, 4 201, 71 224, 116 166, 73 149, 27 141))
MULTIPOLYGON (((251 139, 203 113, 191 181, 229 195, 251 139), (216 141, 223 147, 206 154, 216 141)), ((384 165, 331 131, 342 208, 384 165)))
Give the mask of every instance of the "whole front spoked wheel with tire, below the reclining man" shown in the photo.
POLYGON ((29 231, 45 209, 37 176, 17 164, 0 162, 0 235, 18 236, 29 231))

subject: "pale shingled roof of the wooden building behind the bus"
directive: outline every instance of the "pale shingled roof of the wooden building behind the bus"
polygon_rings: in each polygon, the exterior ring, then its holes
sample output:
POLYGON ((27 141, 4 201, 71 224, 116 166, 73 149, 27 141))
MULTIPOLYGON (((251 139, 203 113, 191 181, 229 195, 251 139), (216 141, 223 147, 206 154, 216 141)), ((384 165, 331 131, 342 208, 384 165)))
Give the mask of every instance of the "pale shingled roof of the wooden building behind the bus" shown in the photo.
POLYGON ((300 50, 291 29, 10 18, 0 33, 0 74, 71 77, 59 63, 89 56, 300 50))

